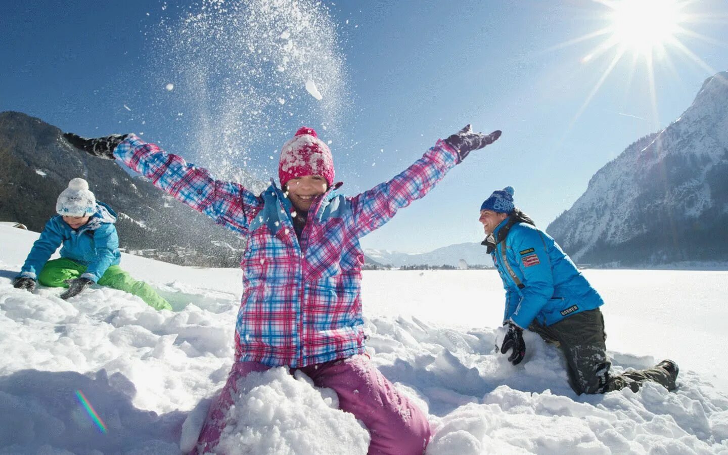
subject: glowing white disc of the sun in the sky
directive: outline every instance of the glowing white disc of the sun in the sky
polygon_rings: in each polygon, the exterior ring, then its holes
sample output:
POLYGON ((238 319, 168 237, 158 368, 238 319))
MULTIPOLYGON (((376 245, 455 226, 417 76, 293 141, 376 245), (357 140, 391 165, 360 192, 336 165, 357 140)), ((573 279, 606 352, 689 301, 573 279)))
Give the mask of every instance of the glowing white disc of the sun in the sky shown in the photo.
POLYGON ((604 2, 612 8, 612 40, 622 50, 649 58, 680 33, 684 4, 675 0, 621 0, 604 2))

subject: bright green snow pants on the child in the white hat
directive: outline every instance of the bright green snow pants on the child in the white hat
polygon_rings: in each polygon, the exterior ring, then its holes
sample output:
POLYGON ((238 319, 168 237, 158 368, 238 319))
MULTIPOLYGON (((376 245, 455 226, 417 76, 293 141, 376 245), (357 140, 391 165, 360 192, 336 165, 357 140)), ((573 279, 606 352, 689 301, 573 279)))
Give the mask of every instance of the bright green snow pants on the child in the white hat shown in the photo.
MULTIPOLYGON (((38 274, 38 282, 51 288, 68 288, 66 280, 73 280, 86 272, 86 266, 68 258, 48 261, 38 274)), ((146 282, 134 280, 119 266, 109 266, 98 284, 138 296, 154 309, 172 309, 172 306, 146 282)))

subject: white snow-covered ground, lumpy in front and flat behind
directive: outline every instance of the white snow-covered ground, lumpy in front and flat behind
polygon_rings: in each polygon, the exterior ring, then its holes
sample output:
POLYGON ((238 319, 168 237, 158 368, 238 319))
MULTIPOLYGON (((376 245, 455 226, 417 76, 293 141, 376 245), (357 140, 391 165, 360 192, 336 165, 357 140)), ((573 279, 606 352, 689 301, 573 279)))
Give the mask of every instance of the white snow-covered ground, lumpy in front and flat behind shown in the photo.
MULTIPOLYGON (((240 271, 124 255, 174 312, 97 286, 63 301, 60 289, 12 288, 37 236, 0 226, 0 454, 189 448, 232 363, 240 271)), ((558 350, 532 333, 510 365, 494 353, 503 291, 492 270, 364 273, 373 361, 427 410, 427 454, 728 454, 728 272, 585 274, 606 300, 614 370, 672 358, 676 392, 574 395, 558 350)), ((368 433, 331 390, 282 368, 244 386, 231 453, 365 453, 368 433)))

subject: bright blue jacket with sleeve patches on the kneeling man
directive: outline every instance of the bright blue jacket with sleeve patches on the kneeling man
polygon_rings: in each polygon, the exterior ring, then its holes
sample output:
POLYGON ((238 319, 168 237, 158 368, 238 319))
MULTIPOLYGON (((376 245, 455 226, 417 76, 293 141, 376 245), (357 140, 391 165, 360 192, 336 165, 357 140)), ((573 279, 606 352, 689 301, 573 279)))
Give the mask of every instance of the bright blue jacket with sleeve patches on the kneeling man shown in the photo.
MULTIPOLYGON (((506 290, 504 323, 510 321, 528 328, 536 320, 551 325, 604 304, 549 234, 527 222, 511 225, 513 221, 509 223, 509 219, 496 226, 493 236, 488 237, 500 240, 494 245, 491 258, 506 290), (504 232, 500 232, 502 229, 504 232)), ((526 220, 530 221, 527 217, 526 220)))

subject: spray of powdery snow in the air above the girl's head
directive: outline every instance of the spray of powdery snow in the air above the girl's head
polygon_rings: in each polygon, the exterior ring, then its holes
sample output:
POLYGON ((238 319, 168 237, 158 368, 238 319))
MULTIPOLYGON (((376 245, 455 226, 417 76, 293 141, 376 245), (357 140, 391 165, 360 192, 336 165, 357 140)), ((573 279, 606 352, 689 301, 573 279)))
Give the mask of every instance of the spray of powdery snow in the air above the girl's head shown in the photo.
POLYGON ((323 4, 203 0, 170 12, 152 35, 152 110, 182 138, 179 154, 222 178, 246 168, 266 180, 296 127, 336 141, 352 97, 323 4))

